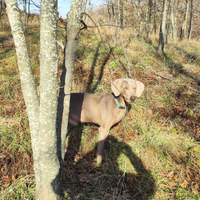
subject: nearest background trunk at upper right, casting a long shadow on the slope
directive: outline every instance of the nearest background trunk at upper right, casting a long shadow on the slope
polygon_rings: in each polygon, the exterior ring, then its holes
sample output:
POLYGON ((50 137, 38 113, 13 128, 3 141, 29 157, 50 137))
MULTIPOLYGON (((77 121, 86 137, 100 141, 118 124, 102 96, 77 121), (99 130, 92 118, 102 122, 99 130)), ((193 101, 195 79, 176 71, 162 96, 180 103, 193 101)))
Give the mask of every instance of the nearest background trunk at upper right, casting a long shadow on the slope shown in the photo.
POLYGON ((159 44, 158 44, 159 53, 163 53, 164 51, 164 36, 166 27, 167 5, 168 5, 167 1, 168 0, 163 0, 162 19, 160 23, 159 44))

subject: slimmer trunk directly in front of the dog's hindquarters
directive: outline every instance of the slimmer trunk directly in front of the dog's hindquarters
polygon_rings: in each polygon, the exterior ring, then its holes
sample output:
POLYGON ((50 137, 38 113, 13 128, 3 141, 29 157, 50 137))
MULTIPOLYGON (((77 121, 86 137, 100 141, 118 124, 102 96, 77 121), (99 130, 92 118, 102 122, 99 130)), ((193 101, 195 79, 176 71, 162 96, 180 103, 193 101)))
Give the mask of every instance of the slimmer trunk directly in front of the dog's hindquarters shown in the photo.
MULTIPOLYGON (((64 68, 61 77, 61 89, 59 94, 59 106, 63 107, 63 112, 58 115, 58 127, 61 129, 61 150, 62 160, 65 155, 65 142, 68 126, 68 114, 70 104, 70 94, 72 88, 76 50, 78 48, 78 33, 80 28, 82 13, 82 0, 72 0, 71 9, 68 13, 67 42, 65 46, 64 68), (66 73, 67 72, 67 73, 66 73), (65 75, 66 73, 66 75, 65 75), (61 118, 60 118, 61 117, 61 118)), ((62 109, 59 109, 62 111, 62 109)))

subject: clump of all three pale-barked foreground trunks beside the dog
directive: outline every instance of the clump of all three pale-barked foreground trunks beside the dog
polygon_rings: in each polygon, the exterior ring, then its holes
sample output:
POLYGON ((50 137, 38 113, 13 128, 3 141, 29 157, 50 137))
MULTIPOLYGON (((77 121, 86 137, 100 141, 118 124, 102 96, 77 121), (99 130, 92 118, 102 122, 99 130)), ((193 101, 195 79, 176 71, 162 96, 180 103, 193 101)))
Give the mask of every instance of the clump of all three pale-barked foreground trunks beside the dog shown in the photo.
MULTIPOLYGON (((34 82, 26 38, 17 0, 6 0, 13 39, 15 42, 22 92, 27 108, 34 171, 36 199, 61 199, 61 167, 65 152, 69 98, 80 27, 82 0, 73 0, 68 16, 64 84, 63 120, 58 129, 58 53, 57 0, 43 0, 40 13, 40 98, 34 82), (65 118, 66 117, 66 118, 65 118), (66 127, 64 127, 66 126, 66 127), (62 146, 61 146, 62 144, 62 146)), ((62 92, 61 92, 62 93, 62 92)))

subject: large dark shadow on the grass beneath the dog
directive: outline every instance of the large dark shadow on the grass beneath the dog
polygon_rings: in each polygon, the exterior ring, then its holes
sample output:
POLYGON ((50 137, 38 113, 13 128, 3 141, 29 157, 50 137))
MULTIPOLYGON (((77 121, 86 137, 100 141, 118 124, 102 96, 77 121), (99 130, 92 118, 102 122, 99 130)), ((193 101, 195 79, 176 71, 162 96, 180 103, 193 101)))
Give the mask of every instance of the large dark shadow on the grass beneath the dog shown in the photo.
POLYGON ((146 200, 154 195, 155 181, 151 172, 125 142, 108 136, 101 166, 96 166, 96 146, 79 156, 82 130, 83 125, 77 131, 80 134, 70 135, 68 139, 61 182, 65 196, 71 199, 146 200))

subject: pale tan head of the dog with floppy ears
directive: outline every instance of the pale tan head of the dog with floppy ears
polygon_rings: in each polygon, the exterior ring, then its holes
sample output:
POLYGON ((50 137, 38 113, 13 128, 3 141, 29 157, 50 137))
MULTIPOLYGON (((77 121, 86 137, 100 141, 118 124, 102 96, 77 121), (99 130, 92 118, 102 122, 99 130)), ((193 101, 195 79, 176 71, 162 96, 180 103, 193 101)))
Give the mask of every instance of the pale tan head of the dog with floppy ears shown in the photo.
POLYGON ((121 78, 111 84, 111 89, 115 96, 121 94, 126 102, 131 103, 136 97, 140 97, 144 84, 131 78, 121 78))

